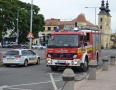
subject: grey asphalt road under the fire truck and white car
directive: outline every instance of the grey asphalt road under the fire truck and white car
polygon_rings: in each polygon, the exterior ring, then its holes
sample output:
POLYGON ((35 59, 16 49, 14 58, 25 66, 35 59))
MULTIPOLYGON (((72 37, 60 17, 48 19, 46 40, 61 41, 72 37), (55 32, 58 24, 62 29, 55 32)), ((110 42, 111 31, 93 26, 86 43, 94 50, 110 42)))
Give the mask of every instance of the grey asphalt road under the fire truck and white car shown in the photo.
MULTIPOLYGON (((0 50, 1 51, 1 50, 0 50)), ((110 56, 115 50, 102 50, 102 56, 110 56)), ((102 60, 99 61, 99 67, 102 60)), ((54 90, 50 75, 53 76, 57 88, 63 86, 63 70, 52 72, 46 67, 46 61, 41 60, 40 65, 28 67, 0 67, 0 88, 3 90, 54 90)), ((75 71, 77 78, 82 78, 87 72, 75 71)), ((0 89, 1 90, 1 89, 0 89)))

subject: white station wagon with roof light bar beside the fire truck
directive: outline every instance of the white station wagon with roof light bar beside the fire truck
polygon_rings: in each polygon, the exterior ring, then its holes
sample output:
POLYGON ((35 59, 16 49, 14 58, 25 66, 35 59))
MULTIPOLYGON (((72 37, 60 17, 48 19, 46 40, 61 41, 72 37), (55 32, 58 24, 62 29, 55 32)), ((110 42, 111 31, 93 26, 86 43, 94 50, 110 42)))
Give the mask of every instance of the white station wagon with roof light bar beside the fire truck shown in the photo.
POLYGON ((40 56, 30 49, 11 49, 8 50, 2 58, 2 63, 9 67, 10 65, 40 64, 40 56))

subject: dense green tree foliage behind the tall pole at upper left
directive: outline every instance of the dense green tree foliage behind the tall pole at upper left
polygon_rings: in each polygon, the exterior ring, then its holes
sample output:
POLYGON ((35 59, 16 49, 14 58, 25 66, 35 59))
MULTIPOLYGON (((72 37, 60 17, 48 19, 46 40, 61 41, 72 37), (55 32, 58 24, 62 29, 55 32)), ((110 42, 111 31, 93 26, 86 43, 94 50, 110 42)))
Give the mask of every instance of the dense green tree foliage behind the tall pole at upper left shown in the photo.
MULTIPOLYGON (((44 16, 39 14, 40 8, 33 5, 32 31, 34 37, 43 31, 45 25, 44 16)), ((11 36, 17 32, 17 20, 19 29, 19 43, 25 42, 30 31, 31 4, 20 0, 0 0, 0 38, 2 32, 12 30, 11 36)))

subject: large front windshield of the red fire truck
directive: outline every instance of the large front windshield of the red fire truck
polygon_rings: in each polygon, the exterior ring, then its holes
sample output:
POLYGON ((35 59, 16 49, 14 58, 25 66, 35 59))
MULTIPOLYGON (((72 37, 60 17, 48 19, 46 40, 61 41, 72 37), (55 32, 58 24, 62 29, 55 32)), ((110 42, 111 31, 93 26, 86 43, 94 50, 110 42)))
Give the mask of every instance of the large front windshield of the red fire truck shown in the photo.
POLYGON ((51 35, 48 47, 78 47, 78 35, 51 35))

